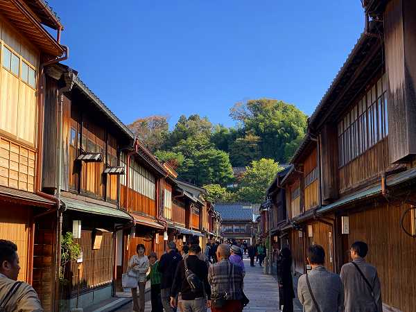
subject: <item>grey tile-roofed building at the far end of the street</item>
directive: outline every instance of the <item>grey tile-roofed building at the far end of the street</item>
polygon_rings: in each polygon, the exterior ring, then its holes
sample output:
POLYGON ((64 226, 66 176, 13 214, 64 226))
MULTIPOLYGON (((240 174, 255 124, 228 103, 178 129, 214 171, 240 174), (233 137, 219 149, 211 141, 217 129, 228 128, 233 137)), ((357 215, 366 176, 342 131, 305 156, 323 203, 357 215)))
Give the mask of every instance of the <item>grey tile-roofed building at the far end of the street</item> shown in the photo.
POLYGON ((220 214, 220 231, 225 240, 235 240, 238 243, 247 241, 250 244, 255 242, 257 215, 254 210, 257 208, 258 214, 259 205, 250 202, 216 202, 214 208, 220 214))

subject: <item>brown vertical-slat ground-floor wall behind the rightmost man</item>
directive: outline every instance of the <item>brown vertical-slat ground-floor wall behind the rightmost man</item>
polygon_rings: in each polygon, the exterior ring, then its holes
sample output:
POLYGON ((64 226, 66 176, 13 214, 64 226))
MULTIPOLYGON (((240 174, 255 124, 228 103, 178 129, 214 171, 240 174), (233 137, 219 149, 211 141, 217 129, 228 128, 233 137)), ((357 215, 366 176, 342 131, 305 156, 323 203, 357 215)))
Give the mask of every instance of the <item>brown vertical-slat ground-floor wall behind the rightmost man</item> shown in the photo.
MULTIPOLYGON (((415 312, 416 244, 400 228, 406 208, 407 205, 392 203, 349 214, 348 246, 343 247, 348 249, 354 241, 365 241, 369 245, 366 259, 379 272, 383 302, 401 311, 415 312)), ((410 214, 405 226, 410 229, 410 214)))

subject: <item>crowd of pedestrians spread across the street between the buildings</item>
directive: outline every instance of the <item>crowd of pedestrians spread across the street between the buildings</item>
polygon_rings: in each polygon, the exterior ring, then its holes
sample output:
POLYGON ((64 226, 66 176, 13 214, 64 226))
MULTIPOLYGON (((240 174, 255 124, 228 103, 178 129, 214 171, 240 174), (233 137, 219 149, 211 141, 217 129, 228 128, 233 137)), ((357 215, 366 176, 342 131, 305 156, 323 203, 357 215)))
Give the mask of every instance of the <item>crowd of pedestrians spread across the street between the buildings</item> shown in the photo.
MULTIPOLYGON (((245 266, 243 255, 254 257, 259 264, 266 255, 263 243, 238 245, 235 241, 209 243, 201 250, 198 237, 193 236, 182 248, 168 243, 168 252, 160 260, 155 252, 146 256, 144 245, 137 245, 137 254, 128 263, 130 276, 137 280, 131 289, 133 311, 144 312, 146 281, 150 280, 152 312, 240 312, 248 303, 243 292, 245 266)), ((311 270, 299 278, 297 297, 305 312, 382 312, 381 285, 377 270, 365 261, 368 246, 362 241, 352 244, 352 261, 346 263, 340 275, 324 267, 325 252, 320 245, 311 245, 306 260, 311 270)), ((277 277, 279 304, 283 312, 293 312, 291 250, 279 252, 277 277)), ((0 308, 1 311, 43 311, 32 286, 17 281, 19 275, 17 245, 0 240, 0 308)))

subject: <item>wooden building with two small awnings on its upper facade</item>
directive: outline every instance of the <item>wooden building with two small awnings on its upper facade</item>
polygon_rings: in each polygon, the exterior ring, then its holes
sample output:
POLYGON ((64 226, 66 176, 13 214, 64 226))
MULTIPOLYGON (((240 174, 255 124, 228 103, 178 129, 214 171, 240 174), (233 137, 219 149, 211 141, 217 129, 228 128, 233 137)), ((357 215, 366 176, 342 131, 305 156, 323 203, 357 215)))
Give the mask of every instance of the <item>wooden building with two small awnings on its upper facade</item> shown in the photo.
MULTIPOLYGON (((71 263, 63 276, 69 284, 55 288, 61 288, 60 309, 65 311, 75 305, 78 284, 82 307, 114 293, 123 248, 117 244, 116 229, 135 222, 120 205, 120 180, 126 176, 121 155, 134 150, 135 137, 76 71, 62 64, 49 65, 44 71, 44 121, 49 131, 44 132, 42 187, 61 203, 58 222, 55 227, 45 225, 44 232, 54 234, 57 241, 71 232, 83 252, 82 275, 78 276, 78 265, 71 263)), ((58 252, 57 257, 59 268, 58 252)), ((47 277, 46 272, 42 276, 47 277)))

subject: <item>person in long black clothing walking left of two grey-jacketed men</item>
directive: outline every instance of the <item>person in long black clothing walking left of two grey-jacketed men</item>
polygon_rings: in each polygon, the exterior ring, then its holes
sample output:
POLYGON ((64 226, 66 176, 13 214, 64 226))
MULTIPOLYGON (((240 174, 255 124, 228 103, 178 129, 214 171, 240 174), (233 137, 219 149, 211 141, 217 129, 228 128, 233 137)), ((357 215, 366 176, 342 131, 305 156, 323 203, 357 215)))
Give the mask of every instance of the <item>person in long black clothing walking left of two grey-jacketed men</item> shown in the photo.
POLYGON ((279 304, 283 312, 293 312, 292 253, 287 247, 280 251, 277 262, 277 280, 279 281, 279 304))

